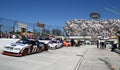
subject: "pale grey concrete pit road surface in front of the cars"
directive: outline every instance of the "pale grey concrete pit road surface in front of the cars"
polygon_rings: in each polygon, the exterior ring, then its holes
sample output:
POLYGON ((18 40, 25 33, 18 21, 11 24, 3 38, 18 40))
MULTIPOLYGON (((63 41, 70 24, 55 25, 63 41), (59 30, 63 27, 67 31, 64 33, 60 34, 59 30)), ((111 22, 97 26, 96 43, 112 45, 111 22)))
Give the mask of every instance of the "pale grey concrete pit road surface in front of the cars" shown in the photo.
POLYGON ((100 59, 107 59, 119 70, 120 55, 109 48, 98 49, 96 45, 62 47, 24 57, 0 54, 0 70, 111 70, 100 59))

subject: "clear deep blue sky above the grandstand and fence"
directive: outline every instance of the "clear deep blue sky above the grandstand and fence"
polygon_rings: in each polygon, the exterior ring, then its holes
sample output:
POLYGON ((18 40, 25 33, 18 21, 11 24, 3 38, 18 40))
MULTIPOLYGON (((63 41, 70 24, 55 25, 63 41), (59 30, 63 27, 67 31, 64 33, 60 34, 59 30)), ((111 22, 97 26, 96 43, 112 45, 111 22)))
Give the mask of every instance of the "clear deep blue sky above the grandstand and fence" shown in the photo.
POLYGON ((90 19, 91 12, 101 14, 101 19, 119 19, 120 0, 0 0, 0 17, 29 23, 65 26, 65 21, 90 19))

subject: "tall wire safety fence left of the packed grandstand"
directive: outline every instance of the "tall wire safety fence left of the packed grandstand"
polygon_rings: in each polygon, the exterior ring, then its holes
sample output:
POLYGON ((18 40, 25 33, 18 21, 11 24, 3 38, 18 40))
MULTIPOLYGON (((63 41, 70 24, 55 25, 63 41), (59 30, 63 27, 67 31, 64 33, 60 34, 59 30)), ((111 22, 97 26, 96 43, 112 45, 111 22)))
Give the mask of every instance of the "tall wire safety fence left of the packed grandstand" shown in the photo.
POLYGON ((16 34, 16 33, 35 33, 35 34, 51 34, 63 36, 65 35, 65 31, 63 29, 64 26, 54 26, 44 24, 44 27, 41 27, 42 23, 35 22, 24 22, 19 20, 12 20, 8 18, 0 18, 0 34, 16 34))

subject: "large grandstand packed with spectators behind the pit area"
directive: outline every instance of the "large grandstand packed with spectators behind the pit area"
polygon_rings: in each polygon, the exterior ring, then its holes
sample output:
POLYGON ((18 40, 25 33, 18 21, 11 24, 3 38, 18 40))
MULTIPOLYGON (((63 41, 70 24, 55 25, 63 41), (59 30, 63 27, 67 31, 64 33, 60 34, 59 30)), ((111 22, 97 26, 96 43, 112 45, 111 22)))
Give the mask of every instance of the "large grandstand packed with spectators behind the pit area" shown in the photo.
POLYGON ((64 27, 68 36, 114 36, 120 29, 120 19, 84 20, 74 19, 66 22, 64 27))

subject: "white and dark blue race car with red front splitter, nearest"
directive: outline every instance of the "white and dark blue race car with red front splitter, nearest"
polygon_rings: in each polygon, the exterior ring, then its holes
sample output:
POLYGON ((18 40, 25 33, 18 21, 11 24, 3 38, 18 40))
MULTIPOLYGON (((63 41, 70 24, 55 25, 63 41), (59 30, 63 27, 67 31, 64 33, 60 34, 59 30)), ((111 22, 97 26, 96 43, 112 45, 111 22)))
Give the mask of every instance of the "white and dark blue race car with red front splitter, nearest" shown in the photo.
POLYGON ((21 39, 16 43, 4 46, 2 54, 10 56, 26 56, 28 54, 47 51, 48 46, 34 39, 21 39))

